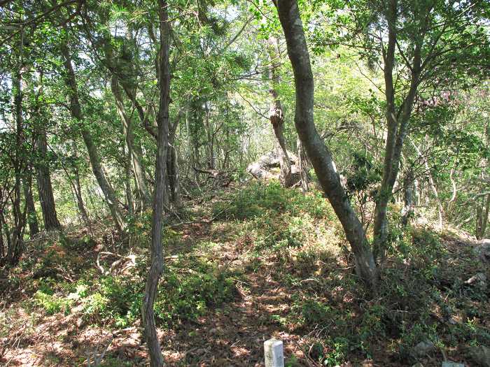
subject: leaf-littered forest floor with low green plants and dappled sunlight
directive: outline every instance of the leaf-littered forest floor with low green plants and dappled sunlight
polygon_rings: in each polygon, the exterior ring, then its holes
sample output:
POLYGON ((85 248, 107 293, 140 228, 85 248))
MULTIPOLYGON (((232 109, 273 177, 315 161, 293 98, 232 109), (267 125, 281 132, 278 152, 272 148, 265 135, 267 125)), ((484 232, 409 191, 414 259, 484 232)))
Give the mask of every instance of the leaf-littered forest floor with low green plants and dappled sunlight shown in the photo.
MULTIPOLYGON (((318 192, 251 184, 186 208, 165 231, 155 304, 169 366, 262 366, 271 337, 290 367, 477 366, 469 348, 490 345, 489 287, 465 284, 490 271, 468 236, 394 230, 370 296, 318 192), (420 342, 433 345, 420 353, 420 342)), ((44 233, 19 266, 0 269, 0 365, 94 366, 102 353, 100 366, 147 365, 150 218, 135 218, 123 241, 102 224, 44 233)))

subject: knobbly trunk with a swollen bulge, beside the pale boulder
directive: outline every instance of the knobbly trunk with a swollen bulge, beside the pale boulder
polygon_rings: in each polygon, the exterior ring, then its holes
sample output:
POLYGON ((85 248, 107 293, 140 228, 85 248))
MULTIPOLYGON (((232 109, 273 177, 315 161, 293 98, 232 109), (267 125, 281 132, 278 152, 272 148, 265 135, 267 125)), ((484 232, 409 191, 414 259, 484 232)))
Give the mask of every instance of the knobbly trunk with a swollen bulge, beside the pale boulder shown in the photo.
POLYGON ((291 175, 291 161, 288 156, 288 149, 286 146, 286 138, 284 137, 284 112, 282 109, 281 99, 279 99, 279 92, 277 87, 279 86, 279 64, 277 59, 279 58, 279 47, 276 38, 271 38, 269 45, 269 58, 271 62, 270 71, 270 89, 269 94, 272 97, 272 104, 269 108, 269 121, 274 129, 274 135, 281 147, 281 175, 279 176, 283 187, 293 186, 293 178, 291 175))

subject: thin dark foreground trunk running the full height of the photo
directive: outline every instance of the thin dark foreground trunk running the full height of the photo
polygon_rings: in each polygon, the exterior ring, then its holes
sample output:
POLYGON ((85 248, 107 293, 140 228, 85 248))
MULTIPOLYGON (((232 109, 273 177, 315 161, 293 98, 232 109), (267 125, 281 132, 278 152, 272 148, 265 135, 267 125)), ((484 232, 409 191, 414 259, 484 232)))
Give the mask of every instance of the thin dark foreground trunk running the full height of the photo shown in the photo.
POLYGON ((160 18, 160 103, 158 109, 157 157, 155 162, 155 192, 153 194, 153 215, 151 224, 151 267, 146 278, 145 295, 141 317, 145 328, 146 344, 150 354, 150 366, 162 367, 163 357, 155 325, 153 304, 158 292, 158 280, 163 272, 162 249, 162 215, 164 195, 166 194, 165 173, 167 172, 167 147, 169 134, 169 103, 170 103, 170 67, 169 67, 169 33, 167 0, 158 1, 160 18))

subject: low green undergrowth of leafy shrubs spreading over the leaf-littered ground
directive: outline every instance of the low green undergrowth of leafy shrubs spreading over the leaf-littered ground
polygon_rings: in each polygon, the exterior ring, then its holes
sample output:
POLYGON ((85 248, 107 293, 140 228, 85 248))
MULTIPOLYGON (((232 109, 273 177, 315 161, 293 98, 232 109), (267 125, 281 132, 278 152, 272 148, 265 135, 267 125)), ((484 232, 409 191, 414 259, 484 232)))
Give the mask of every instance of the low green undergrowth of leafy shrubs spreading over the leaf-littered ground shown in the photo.
MULTIPOLYGON (((211 212, 209 236, 192 244, 180 231, 165 232, 165 248, 185 248, 186 254, 165 263, 155 301, 161 328, 178 331, 227 307, 240 297, 238 282, 251 292, 249 277, 265 274, 288 297, 268 322, 304 336, 304 353, 323 366, 380 356, 386 363, 413 364, 413 348, 422 340, 432 341, 436 353, 490 345, 484 324, 489 291, 464 283, 477 272, 488 273, 470 247, 451 247, 428 228, 392 223, 391 246, 372 296, 353 271, 342 229, 319 192, 255 183, 215 201, 211 212), (230 249, 240 266, 216 260, 230 249)), ((134 238, 148 237, 148 221, 132 222, 134 238)), ((3 294, 22 288, 31 295, 31 307, 46 315, 77 312, 86 323, 109 329, 137 324, 148 268, 144 245, 132 248, 136 261, 129 271, 113 275, 94 266, 91 240, 59 237, 33 247, 40 255, 8 271, 3 294)), ((293 357, 288 366, 295 366, 293 357)))

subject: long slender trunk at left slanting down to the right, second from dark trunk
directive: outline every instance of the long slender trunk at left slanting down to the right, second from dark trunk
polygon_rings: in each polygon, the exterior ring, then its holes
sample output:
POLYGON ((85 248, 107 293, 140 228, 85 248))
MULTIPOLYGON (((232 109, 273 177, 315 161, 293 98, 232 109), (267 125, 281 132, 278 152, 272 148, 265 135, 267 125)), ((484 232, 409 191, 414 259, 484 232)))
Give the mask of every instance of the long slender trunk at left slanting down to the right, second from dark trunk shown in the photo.
POLYGON ((95 178, 97 178, 97 182, 99 183, 102 192, 104 193, 106 203, 109 205, 116 229, 119 233, 123 233, 123 230, 125 229, 125 222, 116 199, 116 193, 114 192, 113 187, 109 183, 109 180, 107 180, 104 170, 102 169, 101 159, 99 157, 99 153, 97 152, 97 146, 93 141, 92 134, 90 134, 87 127, 83 125, 83 114, 80 107, 80 101, 78 100, 78 88, 76 85, 75 72, 73 71, 73 66, 71 65, 69 50, 65 44, 62 44, 61 52, 64 57, 66 86, 69 88, 71 115, 80 123, 80 132, 82 134, 85 146, 87 147, 92 171, 95 178))

